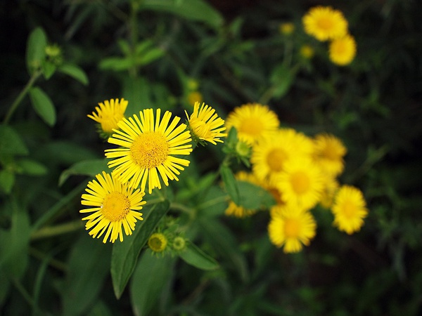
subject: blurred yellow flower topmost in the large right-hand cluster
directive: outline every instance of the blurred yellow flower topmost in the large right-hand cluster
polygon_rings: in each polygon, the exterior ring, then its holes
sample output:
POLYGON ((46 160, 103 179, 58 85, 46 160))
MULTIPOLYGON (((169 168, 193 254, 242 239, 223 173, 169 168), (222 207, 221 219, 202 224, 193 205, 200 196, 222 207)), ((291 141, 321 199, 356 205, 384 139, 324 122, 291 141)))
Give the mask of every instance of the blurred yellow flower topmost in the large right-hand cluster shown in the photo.
POLYGON ((239 140, 253 145, 266 133, 276 131, 280 121, 267 105, 248 103, 236 107, 226 118, 226 128, 235 127, 239 140))

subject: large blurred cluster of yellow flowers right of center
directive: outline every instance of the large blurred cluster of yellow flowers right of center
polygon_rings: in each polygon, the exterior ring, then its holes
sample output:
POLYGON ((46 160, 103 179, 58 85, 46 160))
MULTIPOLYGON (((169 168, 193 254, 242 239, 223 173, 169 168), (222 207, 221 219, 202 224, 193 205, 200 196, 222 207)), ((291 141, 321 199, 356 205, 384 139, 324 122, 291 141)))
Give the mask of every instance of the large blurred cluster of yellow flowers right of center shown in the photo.
MULTIPOLYGON (((340 185, 347 150, 328 133, 313 138, 279 126, 275 112, 266 105, 242 105, 229 114, 227 129, 238 130, 238 141, 251 147, 251 168, 236 174, 238 180, 259 185, 272 195, 269 239, 283 251, 297 252, 316 234, 312 210, 316 205, 331 209, 333 225, 352 234, 358 231, 367 210, 362 192, 340 185)), ((255 210, 230 202, 227 215, 251 216, 255 210)))

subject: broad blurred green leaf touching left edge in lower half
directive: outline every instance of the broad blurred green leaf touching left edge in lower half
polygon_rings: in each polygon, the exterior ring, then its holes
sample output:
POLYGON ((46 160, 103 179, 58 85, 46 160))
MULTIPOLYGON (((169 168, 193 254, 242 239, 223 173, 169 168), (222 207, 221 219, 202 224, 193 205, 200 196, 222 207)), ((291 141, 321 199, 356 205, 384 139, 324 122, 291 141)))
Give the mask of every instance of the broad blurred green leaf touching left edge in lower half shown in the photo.
POLYGON ((11 230, 0 230, 0 270, 20 279, 26 271, 30 245, 30 216, 15 200, 6 203, 11 209, 11 230))

